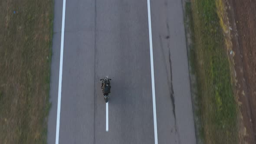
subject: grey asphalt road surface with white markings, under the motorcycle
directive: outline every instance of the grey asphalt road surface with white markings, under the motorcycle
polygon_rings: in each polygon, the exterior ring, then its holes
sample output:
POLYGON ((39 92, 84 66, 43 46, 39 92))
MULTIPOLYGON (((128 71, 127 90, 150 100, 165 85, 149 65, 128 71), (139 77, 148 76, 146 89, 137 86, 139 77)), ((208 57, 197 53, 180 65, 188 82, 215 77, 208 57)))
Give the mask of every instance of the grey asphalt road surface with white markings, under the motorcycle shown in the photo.
MULTIPOLYGON (((56 141, 62 0, 55 0, 48 143, 56 141)), ((146 0, 67 0, 59 144, 154 144, 146 0), (112 79, 106 108, 99 79, 112 79)), ((181 0, 151 0, 158 144, 195 144, 181 0)))

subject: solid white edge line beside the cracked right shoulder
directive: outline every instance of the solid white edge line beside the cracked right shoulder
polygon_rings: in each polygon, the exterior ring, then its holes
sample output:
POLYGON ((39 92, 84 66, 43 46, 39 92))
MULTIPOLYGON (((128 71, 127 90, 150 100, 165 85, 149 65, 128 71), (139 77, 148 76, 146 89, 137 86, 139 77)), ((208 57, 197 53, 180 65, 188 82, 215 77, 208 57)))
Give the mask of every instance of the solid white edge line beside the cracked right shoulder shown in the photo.
POLYGON ((157 127, 157 114, 156 114, 155 89, 154 89, 154 61, 153 61, 153 46, 152 46, 150 0, 147 0, 147 1, 148 1, 148 32, 149 32, 149 48, 150 48, 150 64, 151 64, 153 117, 154 117, 154 143, 158 144, 158 127, 157 127))

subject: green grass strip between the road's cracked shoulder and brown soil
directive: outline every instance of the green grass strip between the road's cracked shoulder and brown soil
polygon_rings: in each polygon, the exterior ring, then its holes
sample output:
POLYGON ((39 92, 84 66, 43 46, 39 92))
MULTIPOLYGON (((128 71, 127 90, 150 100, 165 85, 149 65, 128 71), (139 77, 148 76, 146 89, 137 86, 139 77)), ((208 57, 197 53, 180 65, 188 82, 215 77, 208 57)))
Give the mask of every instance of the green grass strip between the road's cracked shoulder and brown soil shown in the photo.
MULTIPOLYGON (((222 3, 223 4, 223 3, 222 3)), ((236 144, 236 102, 223 36, 220 0, 186 4, 191 40, 190 65, 197 77, 197 104, 206 144, 236 144), (218 9, 217 9, 218 8, 218 9)))

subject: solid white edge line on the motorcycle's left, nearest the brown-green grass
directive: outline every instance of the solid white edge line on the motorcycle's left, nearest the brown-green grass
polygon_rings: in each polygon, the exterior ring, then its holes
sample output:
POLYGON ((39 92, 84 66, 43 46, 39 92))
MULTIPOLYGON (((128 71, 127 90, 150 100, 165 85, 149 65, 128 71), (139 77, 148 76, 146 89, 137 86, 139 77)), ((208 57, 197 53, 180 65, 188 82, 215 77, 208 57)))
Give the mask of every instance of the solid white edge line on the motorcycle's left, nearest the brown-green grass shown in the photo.
POLYGON ((61 86, 62 86, 62 64, 63 64, 63 45, 64 45, 64 29, 65 29, 65 10, 66 10, 66 0, 63 0, 60 59, 59 59, 59 91, 58 91, 58 107, 57 107, 56 141, 55 141, 55 144, 59 144, 59 117, 60 117, 61 86))

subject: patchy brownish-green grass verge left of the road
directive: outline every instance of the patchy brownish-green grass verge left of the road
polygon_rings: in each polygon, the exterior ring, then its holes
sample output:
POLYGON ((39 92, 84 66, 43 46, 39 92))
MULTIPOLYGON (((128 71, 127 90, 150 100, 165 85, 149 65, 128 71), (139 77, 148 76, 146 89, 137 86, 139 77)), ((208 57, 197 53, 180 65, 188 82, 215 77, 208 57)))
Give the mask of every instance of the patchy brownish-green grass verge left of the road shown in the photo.
POLYGON ((0 9, 0 143, 46 144, 53 0, 0 9))

